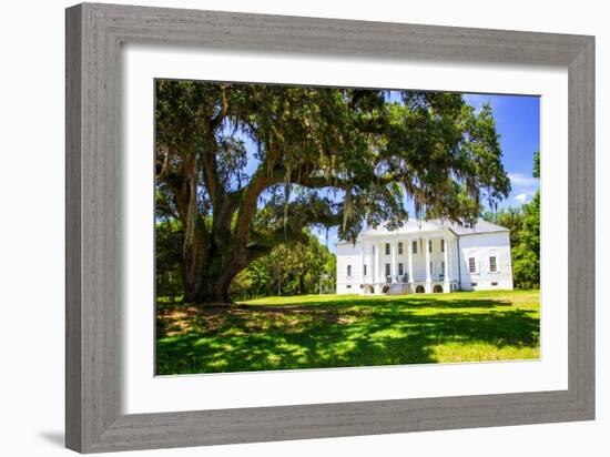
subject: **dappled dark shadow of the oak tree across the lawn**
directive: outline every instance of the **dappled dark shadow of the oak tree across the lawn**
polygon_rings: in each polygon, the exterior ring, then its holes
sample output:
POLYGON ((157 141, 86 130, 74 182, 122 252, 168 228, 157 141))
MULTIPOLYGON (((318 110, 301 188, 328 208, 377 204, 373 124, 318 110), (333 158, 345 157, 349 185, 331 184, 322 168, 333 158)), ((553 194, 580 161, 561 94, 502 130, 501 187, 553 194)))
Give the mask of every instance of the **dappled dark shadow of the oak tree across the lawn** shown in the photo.
POLYGON ((539 319, 509 302, 435 302, 431 314, 420 302, 191 308, 186 326, 161 325, 157 374, 426 364, 451 343, 538 347, 539 319))

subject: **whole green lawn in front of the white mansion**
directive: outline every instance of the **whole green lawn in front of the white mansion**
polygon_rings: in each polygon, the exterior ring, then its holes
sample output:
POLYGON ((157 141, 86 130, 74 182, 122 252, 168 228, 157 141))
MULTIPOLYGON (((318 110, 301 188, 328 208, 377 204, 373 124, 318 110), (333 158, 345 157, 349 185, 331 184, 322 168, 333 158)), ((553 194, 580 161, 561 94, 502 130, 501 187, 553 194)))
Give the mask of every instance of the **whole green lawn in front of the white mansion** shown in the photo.
POLYGON ((157 305, 157 374, 511 360, 540 354, 538 291, 157 305))

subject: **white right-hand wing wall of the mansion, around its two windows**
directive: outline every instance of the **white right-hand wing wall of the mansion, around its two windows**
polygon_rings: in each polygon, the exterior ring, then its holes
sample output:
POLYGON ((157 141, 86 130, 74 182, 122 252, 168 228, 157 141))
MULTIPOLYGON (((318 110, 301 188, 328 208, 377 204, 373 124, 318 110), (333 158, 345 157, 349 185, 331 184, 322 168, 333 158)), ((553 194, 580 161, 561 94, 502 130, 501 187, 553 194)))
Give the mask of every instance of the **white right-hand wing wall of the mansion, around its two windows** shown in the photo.
POLYGON ((460 236, 459 272, 464 291, 511 290, 509 232, 460 236), (496 273, 489 267, 491 256, 496 257, 496 273), (470 273, 469 258, 475 258, 475 273, 470 273))

